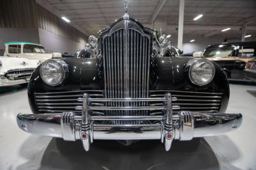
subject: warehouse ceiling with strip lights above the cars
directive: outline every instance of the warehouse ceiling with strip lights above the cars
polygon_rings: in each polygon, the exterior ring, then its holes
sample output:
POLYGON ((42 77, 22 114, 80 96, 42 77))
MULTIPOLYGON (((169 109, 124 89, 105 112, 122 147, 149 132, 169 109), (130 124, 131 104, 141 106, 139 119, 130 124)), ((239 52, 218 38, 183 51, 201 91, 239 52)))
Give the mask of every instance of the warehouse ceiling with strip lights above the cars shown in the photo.
MULTIPOLYGON (((113 23, 124 15, 122 0, 36 0, 55 15, 65 16, 70 24, 86 35, 113 23)), ((128 0, 129 15, 147 27, 177 37, 179 0, 128 0)), ((241 39, 243 24, 246 34, 256 37, 255 0, 185 0, 184 38, 241 39), (197 15, 204 16, 194 21, 197 15), (230 31, 221 32, 230 27, 230 31)))

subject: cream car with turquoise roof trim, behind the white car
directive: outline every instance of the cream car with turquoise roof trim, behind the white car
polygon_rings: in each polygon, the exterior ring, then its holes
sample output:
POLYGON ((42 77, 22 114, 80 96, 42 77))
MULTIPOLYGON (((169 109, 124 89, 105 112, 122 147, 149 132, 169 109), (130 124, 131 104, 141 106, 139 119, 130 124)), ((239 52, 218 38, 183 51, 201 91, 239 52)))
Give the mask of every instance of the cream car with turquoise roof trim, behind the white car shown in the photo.
POLYGON ((44 46, 25 42, 25 41, 10 41, 4 43, 4 56, 17 56, 26 59, 36 59, 44 62, 47 59, 61 57, 61 53, 46 53, 44 46))

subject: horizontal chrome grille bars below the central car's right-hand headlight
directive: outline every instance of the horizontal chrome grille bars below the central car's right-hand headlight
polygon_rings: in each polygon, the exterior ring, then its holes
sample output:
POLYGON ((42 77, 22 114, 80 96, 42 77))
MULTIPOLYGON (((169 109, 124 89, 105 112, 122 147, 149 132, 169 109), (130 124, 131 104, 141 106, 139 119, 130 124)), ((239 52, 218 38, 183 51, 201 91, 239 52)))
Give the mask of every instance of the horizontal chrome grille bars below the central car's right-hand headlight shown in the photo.
MULTIPOLYGON (((208 92, 186 92, 186 91, 167 91, 167 90, 151 90, 150 97, 164 97, 166 92, 170 92, 172 97, 177 97, 177 101, 172 104, 180 106, 180 110, 173 110, 173 113, 178 111, 198 111, 198 112, 218 112, 221 107, 222 93, 208 92)), ((163 103, 151 102, 150 106, 161 106, 163 103)), ((150 115, 159 115, 161 110, 152 111, 150 115)))

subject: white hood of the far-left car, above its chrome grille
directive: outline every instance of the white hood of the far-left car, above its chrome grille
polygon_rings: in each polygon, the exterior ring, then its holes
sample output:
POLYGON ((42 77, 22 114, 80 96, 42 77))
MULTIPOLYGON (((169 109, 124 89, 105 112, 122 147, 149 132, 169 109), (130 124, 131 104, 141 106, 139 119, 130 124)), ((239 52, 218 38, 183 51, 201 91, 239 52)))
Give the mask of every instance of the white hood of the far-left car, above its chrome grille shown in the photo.
POLYGON ((3 57, 0 56, 2 66, 0 68, 0 74, 4 74, 12 69, 35 69, 39 64, 39 60, 29 60, 20 57, 3 57))

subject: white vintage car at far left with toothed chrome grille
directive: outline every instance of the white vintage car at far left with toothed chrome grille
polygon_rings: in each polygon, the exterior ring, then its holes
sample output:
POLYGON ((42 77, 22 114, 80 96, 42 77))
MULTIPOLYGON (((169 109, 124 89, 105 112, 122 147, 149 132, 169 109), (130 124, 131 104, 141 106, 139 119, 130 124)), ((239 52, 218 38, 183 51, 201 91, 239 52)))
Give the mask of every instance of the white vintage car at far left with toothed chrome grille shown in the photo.
POLYGON ((40 60, 0 56, 0 87, 28 83, 40 60))

